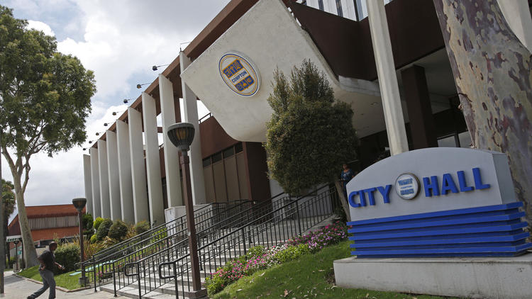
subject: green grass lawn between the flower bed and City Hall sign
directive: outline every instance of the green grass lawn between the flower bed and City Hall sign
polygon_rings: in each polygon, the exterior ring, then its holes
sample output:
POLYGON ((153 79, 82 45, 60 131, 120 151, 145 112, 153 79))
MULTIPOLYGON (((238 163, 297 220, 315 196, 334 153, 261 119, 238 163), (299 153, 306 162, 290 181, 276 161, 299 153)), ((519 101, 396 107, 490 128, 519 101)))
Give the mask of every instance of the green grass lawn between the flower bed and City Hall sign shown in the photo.
POLYGON ((334 286, 333 261, 350 256, 349 244, 350 241, 344 241, 296 261, 257 271, 211 298, 443 298, 334 286))

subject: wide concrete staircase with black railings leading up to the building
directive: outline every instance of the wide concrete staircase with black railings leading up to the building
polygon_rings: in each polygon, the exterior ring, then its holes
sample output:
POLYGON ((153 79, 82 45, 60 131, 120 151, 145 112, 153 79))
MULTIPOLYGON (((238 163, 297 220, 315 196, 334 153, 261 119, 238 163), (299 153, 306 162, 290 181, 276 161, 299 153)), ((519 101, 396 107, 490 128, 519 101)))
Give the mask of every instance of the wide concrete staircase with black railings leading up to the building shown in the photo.
MULTIPOLYGON (((325 186, 299 198, 279 194, 272 201, 239 203, 204 217, 210 225, 196 224, 201 282, 251 247, 273 247, 323 225, 336 205, 336 189, 325 186)), ((200 213, 204 210, 195 211, 194 218, 200 213)), ((170 226, 165 230, 170 234, 150 237, 156 242, 147 242, 136 254, 109 261, 105 267, 112 277, 100 283, 100 290, 129 298, 188 298, 192 273, 186 225, 170 226)))

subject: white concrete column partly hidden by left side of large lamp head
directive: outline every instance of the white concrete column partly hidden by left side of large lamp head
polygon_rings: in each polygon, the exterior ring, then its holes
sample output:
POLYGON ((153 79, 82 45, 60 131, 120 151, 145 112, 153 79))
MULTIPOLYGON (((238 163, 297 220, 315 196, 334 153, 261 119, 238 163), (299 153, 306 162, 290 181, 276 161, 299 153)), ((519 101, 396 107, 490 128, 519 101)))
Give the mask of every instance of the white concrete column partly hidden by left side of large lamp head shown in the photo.
POLYGON ((172 82, 159 74, 159 98, 161 103, 162 135, 165 144, 166 193, 168 208, 184 205, 179 176, 179 154, 177 147, 168 138, 167 128, 175 123, 174 89, 172 82))

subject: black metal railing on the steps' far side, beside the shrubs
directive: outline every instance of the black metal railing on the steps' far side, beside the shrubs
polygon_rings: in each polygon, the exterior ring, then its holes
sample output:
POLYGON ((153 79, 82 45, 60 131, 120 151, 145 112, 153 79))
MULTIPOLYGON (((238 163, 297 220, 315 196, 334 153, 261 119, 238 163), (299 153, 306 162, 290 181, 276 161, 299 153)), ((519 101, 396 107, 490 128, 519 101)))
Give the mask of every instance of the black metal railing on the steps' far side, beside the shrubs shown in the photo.
MULTIPOLYGON (((238 210, 240 205, 250 203, 250 201, 236 201, 234 204, 204 205, 194 211, 196 229, 209 227, 211 219, 218 213, 231 213, 231 210, 238 210)), ((92 278, 94 282, 94 290, 99 283, 106 283, 110 278, 116 280, 116 272, 121 272, 124 264, 164 249, 170 240, 169 236, 185 238, 186 228, 186 217, 182 216, 94 254, 84 263, 85 271, 89 272, 87 277, 92 278)))

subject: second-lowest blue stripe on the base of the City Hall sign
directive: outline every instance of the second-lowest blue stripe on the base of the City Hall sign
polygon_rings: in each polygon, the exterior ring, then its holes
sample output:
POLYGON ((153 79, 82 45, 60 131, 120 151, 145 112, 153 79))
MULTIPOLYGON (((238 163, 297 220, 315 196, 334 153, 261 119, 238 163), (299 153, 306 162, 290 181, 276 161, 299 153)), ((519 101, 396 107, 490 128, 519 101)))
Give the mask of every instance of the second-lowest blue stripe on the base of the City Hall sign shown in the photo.
POLYGON ((392 247, 392 246, 416 246, 416 245, 430 245, 430 244, 467 244, 467 243, 484 243, 484 242, 515 242, 521 239, 526 239, 530 234, 528 232, 521 232, 517 235, 501 235, 494 237, 457 237, 445 239, 404 239, 403 241, 392 241, 389 239, 382 242, 356 242, 350 244, 351 248, 371 248, 371 247, 392 247))

